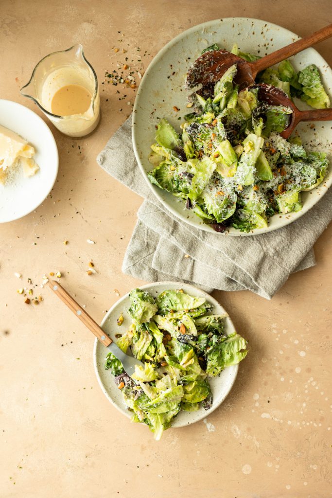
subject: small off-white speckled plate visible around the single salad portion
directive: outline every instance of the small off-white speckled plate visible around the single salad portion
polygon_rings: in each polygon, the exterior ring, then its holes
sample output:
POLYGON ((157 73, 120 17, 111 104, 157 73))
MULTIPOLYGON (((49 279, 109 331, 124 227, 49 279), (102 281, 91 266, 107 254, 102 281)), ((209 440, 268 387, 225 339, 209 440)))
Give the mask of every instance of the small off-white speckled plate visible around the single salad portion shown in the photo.
MULTIPOLYGON (((209 303, 214 305, 213 314, 226 313, 221 304, 216 301, 212 296, 207 294, 201 289, 193 287, 185 283, 179 282, 155 282, 147 285, 142 285, 140 289, 145 289, 150 292, 154 297, 160 294, 163 290, 174 290, 183 289, 187 294, 193 296, 204 296, 209 303)), ((105 315, 104 320, 101 323, 101 327, 105 332, 114 340, 114 334, 124 333, 131 325, 132 319, 127 314, 127 309, 130 307, 129 293, 121 297, 108 311, 105 315), (116 319, 119 317, 120 313, 123 314, 124 321, 119 327, 116 324, 116 319)), ((225 332, 227 335, 232 334, 235 331, 234 325, 229 317, 225 318, 225 332)), ((123 401, 123 395, 121 391, 116 387, 114 382, 114 376, 109 370, 105 370, 105 359, 108 354, 108 350, 105 346, 96 339, 94 347, 94 366, 95 372, 99 381, 99 384, 106 395, 106 397, 111 401, 112 405, 115 406, 123 415, 126 417, 131 417, 131 413, 127 410, 126 405, 123 401)), ((236 374, 238 370, 238 365, 232 367, 227 367, 224 369, 218 377, 210 378, 209 382, 211 385, 211 390, 213 394, 213 404, 209 410, 200 408, 198 411, 180 411, 180 413, 174 418, 172 427, 183 427, 185 425, 193 424, 202 418, 207 417, 212 413, 218 406, 221 405, 222 401, 227 396, 228 392, 232 388, 235 381, 236 374)))

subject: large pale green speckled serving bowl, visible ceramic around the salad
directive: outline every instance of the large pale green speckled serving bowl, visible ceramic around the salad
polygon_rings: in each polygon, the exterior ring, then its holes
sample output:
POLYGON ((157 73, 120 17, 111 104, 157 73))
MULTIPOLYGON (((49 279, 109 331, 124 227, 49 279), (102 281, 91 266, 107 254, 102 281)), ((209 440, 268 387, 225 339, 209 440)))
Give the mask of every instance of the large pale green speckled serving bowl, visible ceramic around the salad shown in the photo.
MULTIPOLYGON (((138 165, 148 185, 158 200, 174 216, 193 227, 216 233, 194 213, 185 209, 184 204, 179 202, 176 197, 152 185, 146 174, 152 169, 148 155, 150 145, 154 142, 155 125, 159 119, 167 118, 173 126, 178 128, 184 115, 189 112, 186 107, 187 94, 184 90, 184 81, 189 66, 204 48, 213 43, 218 43, 221 48, 227 50, 231 50, 233 44, 236 43, 244 52, 264 56, 299 38, 288 29, 270 22, 246 17, 226 17, 205 22, 184 31, 165 45, 153 59, 137 92, 133 109, 132 141, 138 165), (180 111, 175 112, 173 106, 176 106, 180 111)), ((321 71, 325 88, 331 95, 332 70, 316 50, 308 48, 291 57, 290 60, 297 71, 309 64, 316 64, 321 71)), ((310 109, 298 99, 296 99, 296 105, 299 109, 310 109)), ((331 154, 332 122, 315 123, 315 128, 310 128, 310 125, 310 123, 301 123, 297 126, 304 146, 310 149, 316 147, 320 151, 327 151, 331 154)), ((329 173, 321 185, 310 192, 302 193, 303 208, 301 211, 275 215, 269 220, 267 228, 255 229, 249 234, 233 228, 230 228, 225 234, 242 237, 259 235, 281 228, 300 218, 320 200, 331 186, 331 170, 330 167, 329 173)))

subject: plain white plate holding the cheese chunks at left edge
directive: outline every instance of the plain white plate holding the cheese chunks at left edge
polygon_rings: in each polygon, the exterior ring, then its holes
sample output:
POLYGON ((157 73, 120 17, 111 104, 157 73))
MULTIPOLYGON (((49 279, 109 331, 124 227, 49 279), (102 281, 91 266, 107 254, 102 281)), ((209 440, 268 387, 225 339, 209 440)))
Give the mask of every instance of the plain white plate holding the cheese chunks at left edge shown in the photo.
POLYGON ((18 166, 7 184, 0 184, 0 223, 5 223, 31 213, 48 196, 58 174, 59 156, 51 130, 27 107, 0 100, 0 124, 35 148, 34 159, 39 166, 39 171, 28 178, 18 166))

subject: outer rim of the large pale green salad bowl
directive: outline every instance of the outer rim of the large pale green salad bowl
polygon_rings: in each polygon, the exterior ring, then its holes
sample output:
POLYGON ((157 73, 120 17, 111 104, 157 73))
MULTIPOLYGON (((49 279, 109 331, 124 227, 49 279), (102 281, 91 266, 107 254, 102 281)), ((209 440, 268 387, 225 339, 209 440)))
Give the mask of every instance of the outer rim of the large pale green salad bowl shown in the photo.
MULTIPOLYGON (((302 209, 300 211, 298 211, 296 213, 294 213, 294 212, 292 213, 291 218, 287 218, 286 215, 283 215, 282 216, 282 221, 283 221, 282 225, 280 225, 280 226, 277 225, 277 226, 272 226, 272 227, 267 226, 267 227, 261 228, 261 229, 253 229, 249 233, 240 232, 240 231, 235 230, 235 229, 230 230, 230 231, 226 230, 225 232, 216 232, 208 224, 201 223, 199 225, 198 223, 195 223, 193 220, 187 218, 185 213, 181 214, 176 209, 174 209, 173 206, 171 206, 169 203, 164 201, 164 199, 162 198, 164 191, 160 191, 160 189, 158 189, 158 187, 156 187, 155 185, 152 185, 152 183, 149 181, 147 174, 145 173, 143 164, 141 163, 141 159, 140 159, 138 149, 136 146, 136 129, 138 128, 139 124, 136 124, 134 122, 134 120, 136 118, 137 108, 139 106, 141 94, 144 91, 144 81, 148 77, 149 70, 151 70, 151 68, 154 68, 154 66, 158 63, 159 59, 164 55, 164 53, 166 53, 169 50, 169 48, 171 48, 174 44, 176 44, 183 37, 190 34, 191 32, 197 31, 198 29, 204 29, 204 28, 208 27, 209 25, 214 25, 215 23, 223 22, 224 20, 235 21, 235 22, 242 22, 242 21, 243 22, 250 22, 250 21, 251 22, 252 21, 259 22, 262 24, 267 24, 268 27, 272 26, 274 28, 282 30, 283 33, 287 33, 287 34, 295 37, 296 40, 301 39, 301 36, 299 36, 297 33, 294 33, 293 31, 291 31, 287 28, 284 28, 283 26, 280 26, 279 24, 275 24, 274 22, 269 22, 269 21, 266 21, 264 19, 257 19, 254 17, 221 17, 221 18, 216 18, 216 19, 209 20, 206 22, 202 22, 200 24, 196 24, 195 26, 192 26, 192 27, 186 29, 185 31, 182 31, 181 33, 176 35, 174 38, 172 38, 168 43, 166 43, 159 50, 159 52, 154 56, 154 58, 152 59, 152 61, 148 65, 148 67, 147 67, 147 69, 142 77, 141 84, 138 87, 138 91, 136 94, 136 98, 135 98, 135 102, 134 102, 134 106, 133 106, 133 111, 132 111, 131 140, 132 140, 133 150, 134 150, 134 154, 135 154, 135 158, 136 158, 138 167, 141 170, 141 173, 142 173, 145 181, 149 185, 150 190, 153 192, 153 194, 156 196, 156 198, 162 204, 162 206, 165 207, 167 209, 167 211, 170 212, 173 216, 175 216, 176 220, 181 220, 182 222, 186 223, 187 225, 189 225, 191 227, 194 227, 197 230, 203 230, 204 232, 207 232, 210 234, 218 234, 218 235, 222 235, 224 237, 227 237, 227 236, 228 237, 229 236, 230 237, 252 237, 252 236, 262 235, 262 234, 269 233, 269 232, 274 232, 275 230, 279 230, 283 227, 286 227, 287 225, 297 221, 299 218, 301 218, 303 215, 305 215, 308 211, 310 211, 321 200, 321 198, 327 193, 327 191, 330 189, 330 187, 332 185, 332 171, 331 171, 331 169, 330 169, 330 175, 328 177, 328 182, 326 180, 324 180, 324 182, 321 185, 318 185, 315 189, 313 189, 312 192, 315 192, 316 189, 320 189, 322 187, 322 185, 325 185, 327 188, 321 189, 320 195, 317 195, 317 197, 313 201, 308 202, 309 201, 309 199, 308 199, 307 203, 302 207, 302 209)), ((330 72, 331 72, 331 78, 332 78, 332 68, 327 63, 327 61, 323 58, 323 56, 313 47, 309 47, 306 50, 314 51, 315 54, 317 56, 319 56, 324 61, 327 69, 330 70, 330 72)), ((328 121, 327 123, 332 123, 332 122, 328 121)), ((137 140, 137 143, 138 143, 138 140, 137 140)), ((332 164, 330 164, 330 168, 332 168, 332 164)), ((277 214, 274 216, 277 216, 277 214)))

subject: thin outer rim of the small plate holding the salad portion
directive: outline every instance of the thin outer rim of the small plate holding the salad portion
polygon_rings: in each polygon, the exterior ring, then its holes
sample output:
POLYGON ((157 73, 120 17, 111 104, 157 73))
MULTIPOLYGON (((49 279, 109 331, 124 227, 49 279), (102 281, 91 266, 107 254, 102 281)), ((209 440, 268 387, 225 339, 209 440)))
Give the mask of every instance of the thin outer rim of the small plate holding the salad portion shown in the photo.
MULTIPOLYGON (((222 306, 222 304, 217 301, 217 299, 213 296, 211 296, 211 294, 208 294, 207 292, 205 292, 203 289, 201 289, 200 287, 196 287, 195 285, 191 285, 191 284, 187 284, 185 282, 178 282, 178 281, 157 281, 157 282, 150 282, 150 283, 147 283, 147 284, 144 284, 144 285, 140 285, 139 287, 137 287, 138 289, 147 289, 147 288, 151 288, 154 287, 154 286, 157 286, 157 285, 178 285, 180 288, 182 287, 187 287, 188 289, 195 289, 195 291, 198 291, 200 293, 202 293, 202 295, 204 296, 207 296, 209 298, 209 300, 211 300, 211 302, 214 304, 214 306, 220 306, 223 311, 225 313, 226 310, 224 309, 224 307, 222 306)), ((106 315, 104 316, 103 320, 101 321, 101 327, 103 328, 106 321, 108 320, 109 316, 111 315, 112 311, 114 310, 114 308, 119 305, 122 301, 124 301, 128 296, 129 296, 129 293, 131 292, 131 290, 129 292, 127 292, 126 294, 124 294, 123 296, 121 296, 117 301, 115 301, 115 303, 111 306, 111 308, 109 309, 109 311, 106 313, 106 315)), ((234 331, 236 330, 235 329, 235 326, 230 318, 230 316, 228 315, 227 313, 227 318, 230 322, 230 325, 233 327, 234 331)), ((104 330, 104 329, 103 329, 104 330)), ((111 404, 120 412, 122 413, 123 415, 125 415, 127 418, 131 418, 131 415, 130 413, 128 412, 128 410, 125 410, 125 409, 122 409, 119 405, 117 405, 113 399, 111 398, 110 394, 107 392, 104 384, 103 384, 103 381, 101 379, 101 376, 99 374, 99 370, 98 370, 98 365, 97 365, 97 347, 99 345, 99 340, 96 338, 95 341, 94 341, 94 349, 93 349, 93 360, 94 360, 94 370, 95 370, 95 374, 97 376, 97 380, 98 380, 98 383, 103 391, 103 393, 105 394, 105 396, 107 397, 107 399, 111 402, 111 404)), ((230 384, 229 384, 229 387, 228 389, 226 390, 224 396, 221 398, 221 400, 219 400, 216 404, 213 404, 212 407, 206 411, 206 413, 202 413, 202 415, 200 415, 196 420, 193 420, 191 422, 184 422, 184 423, 180 423, 179 425, 173 425, 171 424, 171 428, 179 428, 179 427, 187 427, 188 425, 191 425, 193 423, 196 423, 196 422, 199 422, 200 420, 203 420, 204 418, 207 418, 209 415, 211 415, 211 413, 213 411, 215 411, 217 408, 219 408, 219 406, 224 402, 224 400, 226 399, 226 397, 228 396, 229 392, 231 391, 231 389, 233 388, 234 386, 234 383, 235 383, 235 380, 236 380, 236 377, 237 377, 237 373, 238 373, 238 364, 237 365, 232 365, 231 367, 226 367, 227 368, 232 368, 232 375, 233 375, 233 378, 231 379, 230 381, 230 384)), ((224 369, 224 370, 226 370, 224 369)))

